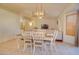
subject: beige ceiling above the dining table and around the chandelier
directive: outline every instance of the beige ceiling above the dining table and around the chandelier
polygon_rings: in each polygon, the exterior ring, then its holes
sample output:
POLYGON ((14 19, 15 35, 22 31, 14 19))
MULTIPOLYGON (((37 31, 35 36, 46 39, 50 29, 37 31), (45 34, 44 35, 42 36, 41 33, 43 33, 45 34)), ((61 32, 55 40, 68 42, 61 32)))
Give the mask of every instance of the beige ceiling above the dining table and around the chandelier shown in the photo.
MULTIPOLYGON (((36 11, 36 8, 39 3, 2 3, 0 7, 11 12, 15 12, 17 14, 21 14, 25 17, 32 16, 32 12, 36 11)), ((66 9, 69 5, 68 3, 43 3, 43 9, 47 17, 58 17, 64 9, 66 9)))

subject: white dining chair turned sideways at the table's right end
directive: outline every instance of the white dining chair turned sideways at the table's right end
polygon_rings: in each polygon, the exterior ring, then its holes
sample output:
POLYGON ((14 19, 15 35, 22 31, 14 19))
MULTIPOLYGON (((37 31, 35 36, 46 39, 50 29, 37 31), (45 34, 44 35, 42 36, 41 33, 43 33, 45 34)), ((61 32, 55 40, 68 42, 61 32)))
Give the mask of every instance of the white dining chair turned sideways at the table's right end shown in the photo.
MULTIPOLYGON (((55 43, 55 40, 57 38, 58 31, 57 30, 54 30, 51 33, 49 33, 50 35, 47 35, 48 33, 46 33, 45 41, 46 42, 49 42, 50 49, 51 49, 51 53, 52 53, 52 50, 54 50, 56 52, 56 45, 55 45, 56 43, 55 43), (52 35, 51 35, 51 33, 52 33, 52 35)), ((46 49, 46 45, 44 47, 45 49, 46 49)))

